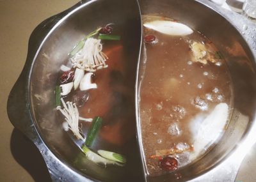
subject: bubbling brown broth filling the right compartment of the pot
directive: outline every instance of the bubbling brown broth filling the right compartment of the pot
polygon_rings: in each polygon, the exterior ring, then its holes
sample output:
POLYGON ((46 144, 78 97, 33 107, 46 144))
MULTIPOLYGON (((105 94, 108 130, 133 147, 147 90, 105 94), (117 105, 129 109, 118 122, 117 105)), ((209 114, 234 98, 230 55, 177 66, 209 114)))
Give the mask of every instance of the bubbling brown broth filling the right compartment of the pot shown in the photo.
MULTIPOLYGON (((170 20, 143 16, 143 22, 156 19, 170 20)), ((143 47, 138 96, 143 154, 155 176, 166 172, 159 159, 173 156, 182 167, 220 139, 232 108, 232 82, 225 60, 202 34, 170 36, 145 27, 143 34, 156 36, 143 47), (206 64, 195 61, 195 42, 207 49, 206 64)))

